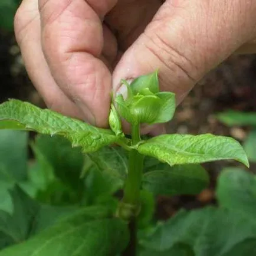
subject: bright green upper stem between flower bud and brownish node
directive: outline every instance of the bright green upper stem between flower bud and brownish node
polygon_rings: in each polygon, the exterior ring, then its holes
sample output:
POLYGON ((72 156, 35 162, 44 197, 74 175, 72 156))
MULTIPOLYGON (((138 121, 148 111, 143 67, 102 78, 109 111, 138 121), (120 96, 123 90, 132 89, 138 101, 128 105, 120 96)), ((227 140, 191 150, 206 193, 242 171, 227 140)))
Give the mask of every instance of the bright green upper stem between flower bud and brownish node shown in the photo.
MULTIPOLYGON (((140 127, 139 125, 132 126, 132 145, 140 142, 140 127)), ((139 208, 140 204, 140 185, 142 182, 144 156, 140 155, 137 150, 132 149, 129 152, 129 168, 126 183, 124 186, 125 204, 133 205, 139 208)))

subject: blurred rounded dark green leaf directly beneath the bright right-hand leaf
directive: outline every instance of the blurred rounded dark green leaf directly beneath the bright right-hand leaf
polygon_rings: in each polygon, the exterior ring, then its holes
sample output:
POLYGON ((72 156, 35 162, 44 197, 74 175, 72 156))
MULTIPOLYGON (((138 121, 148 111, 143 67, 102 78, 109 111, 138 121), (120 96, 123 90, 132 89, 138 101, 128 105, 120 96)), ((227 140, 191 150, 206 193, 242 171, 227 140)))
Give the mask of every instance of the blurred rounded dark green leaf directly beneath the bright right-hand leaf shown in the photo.
POLYGON ((176 165, 143 175, 142 186, 155 195, 196 195, 209 185, 209 175, 200 165, 176 165))

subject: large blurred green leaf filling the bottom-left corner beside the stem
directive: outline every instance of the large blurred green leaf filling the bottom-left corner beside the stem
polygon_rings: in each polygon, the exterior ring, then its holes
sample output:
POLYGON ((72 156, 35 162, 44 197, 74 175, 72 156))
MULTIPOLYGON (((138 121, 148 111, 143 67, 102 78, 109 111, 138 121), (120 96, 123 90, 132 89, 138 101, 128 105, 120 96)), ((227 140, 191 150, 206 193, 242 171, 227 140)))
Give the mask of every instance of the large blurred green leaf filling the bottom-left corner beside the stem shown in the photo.
POLYGON ((41 234, 1 251, 1 256, 116 255, 129 240, 126 222, 110 218, 104 208, 91 207, 74 214, 41 234))

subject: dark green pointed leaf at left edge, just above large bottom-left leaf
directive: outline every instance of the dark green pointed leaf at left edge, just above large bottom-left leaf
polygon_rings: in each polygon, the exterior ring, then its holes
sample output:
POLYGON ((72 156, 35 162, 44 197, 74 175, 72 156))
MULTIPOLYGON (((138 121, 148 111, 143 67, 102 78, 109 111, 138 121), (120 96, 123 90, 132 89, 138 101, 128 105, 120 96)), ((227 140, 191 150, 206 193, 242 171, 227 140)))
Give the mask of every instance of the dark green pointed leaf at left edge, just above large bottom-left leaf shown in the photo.
POLYGON ((0 249, 27 240, 77 209, 40 205, 18 186, 9 189, 9 195, 14 209, 0 211, 0 249))

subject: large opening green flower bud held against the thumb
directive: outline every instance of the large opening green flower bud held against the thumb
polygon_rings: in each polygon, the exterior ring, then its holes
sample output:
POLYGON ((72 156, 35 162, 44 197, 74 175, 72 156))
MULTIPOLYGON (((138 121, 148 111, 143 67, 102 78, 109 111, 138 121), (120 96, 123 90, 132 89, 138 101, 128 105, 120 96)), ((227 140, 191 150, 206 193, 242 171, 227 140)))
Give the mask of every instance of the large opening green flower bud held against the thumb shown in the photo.
POLYGON ((159 92, 157 72, 136 78, 127 86, 128 96, 124 100, 120 94, 115 103, 120 116, 131 124, 165 123, 175 112, 175 94, 159 92))

